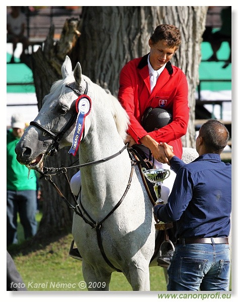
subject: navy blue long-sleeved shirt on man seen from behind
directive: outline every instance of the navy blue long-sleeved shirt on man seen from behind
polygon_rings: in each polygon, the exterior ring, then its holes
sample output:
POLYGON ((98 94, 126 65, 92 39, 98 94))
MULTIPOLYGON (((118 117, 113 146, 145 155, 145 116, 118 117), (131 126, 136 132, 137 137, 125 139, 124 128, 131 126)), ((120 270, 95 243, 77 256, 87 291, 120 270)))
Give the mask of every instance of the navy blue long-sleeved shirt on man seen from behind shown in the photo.
POLYGON ((177 175, 166 205, 154 214, 164 222, 176 221, 176 238, 228 237, 231 213, 231 164, 218 154, 204 154, 185 164, 174 156, 177 175))

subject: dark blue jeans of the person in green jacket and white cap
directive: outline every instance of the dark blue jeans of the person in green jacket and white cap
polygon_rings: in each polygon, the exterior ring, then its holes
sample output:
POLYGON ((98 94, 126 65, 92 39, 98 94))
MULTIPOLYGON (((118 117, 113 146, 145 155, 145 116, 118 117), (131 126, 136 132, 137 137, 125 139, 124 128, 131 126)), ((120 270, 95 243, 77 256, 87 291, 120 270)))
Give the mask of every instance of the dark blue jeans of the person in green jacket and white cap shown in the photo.
POLYGON ((25 239, 37 232, 37 196, 35 190, 7 190, 7 246, 17 244, 17 213, 24 229, 25 239))

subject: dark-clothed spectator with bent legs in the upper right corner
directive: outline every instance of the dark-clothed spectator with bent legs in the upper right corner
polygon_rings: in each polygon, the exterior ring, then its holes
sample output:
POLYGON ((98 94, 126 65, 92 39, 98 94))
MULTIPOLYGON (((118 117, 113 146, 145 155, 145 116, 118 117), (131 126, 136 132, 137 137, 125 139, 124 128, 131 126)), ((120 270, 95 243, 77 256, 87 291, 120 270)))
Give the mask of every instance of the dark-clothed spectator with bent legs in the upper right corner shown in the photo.
POLYGON ((218 61, 217 51, 220 49, 221 43, 224 40, 227 40, 230 51, 228 60, 222 66, 222 68, 225 68, 229 63, 231 63, 231 6, 221 10, 221 22, 220 30, 212 33, 210 36, 210 44, 213 54, 207 61, 218 61))

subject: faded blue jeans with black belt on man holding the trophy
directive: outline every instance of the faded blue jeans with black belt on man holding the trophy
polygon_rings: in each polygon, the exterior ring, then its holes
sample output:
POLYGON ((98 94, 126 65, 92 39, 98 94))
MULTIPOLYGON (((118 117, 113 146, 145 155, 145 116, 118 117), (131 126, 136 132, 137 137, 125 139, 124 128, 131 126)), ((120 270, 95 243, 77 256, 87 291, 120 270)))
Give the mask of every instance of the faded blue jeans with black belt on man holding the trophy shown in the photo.
POLYGON ((227 244, 178 244, 168 267, 167 290, 229 290, 227 244))

